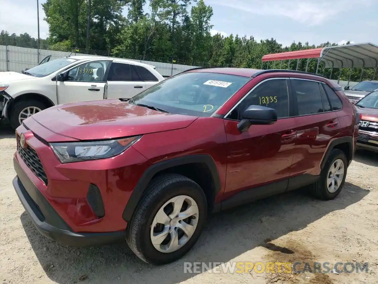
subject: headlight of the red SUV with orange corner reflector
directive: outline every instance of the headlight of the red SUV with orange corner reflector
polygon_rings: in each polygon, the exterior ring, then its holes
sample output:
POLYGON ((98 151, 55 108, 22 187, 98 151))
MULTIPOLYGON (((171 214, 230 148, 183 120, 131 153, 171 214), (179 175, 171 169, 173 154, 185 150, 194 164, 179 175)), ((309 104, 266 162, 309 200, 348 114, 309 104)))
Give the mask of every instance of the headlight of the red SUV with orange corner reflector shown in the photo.
POLYGON ((94 142, 50 143, 62 164, 98 160, 117 156, 138 141, 142 136, 94 142))

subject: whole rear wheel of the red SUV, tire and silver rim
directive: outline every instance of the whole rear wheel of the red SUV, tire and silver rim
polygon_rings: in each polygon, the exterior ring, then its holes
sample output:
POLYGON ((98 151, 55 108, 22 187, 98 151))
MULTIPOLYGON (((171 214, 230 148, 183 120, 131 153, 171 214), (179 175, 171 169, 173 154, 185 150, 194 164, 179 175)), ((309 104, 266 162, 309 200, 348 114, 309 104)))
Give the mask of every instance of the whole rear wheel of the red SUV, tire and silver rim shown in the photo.
POLYGON ((347 175, 347 157, 339 149, 333 149, 325 162, 319 180, 313 185, 315 197, 331 200, 339 195, 347 175))

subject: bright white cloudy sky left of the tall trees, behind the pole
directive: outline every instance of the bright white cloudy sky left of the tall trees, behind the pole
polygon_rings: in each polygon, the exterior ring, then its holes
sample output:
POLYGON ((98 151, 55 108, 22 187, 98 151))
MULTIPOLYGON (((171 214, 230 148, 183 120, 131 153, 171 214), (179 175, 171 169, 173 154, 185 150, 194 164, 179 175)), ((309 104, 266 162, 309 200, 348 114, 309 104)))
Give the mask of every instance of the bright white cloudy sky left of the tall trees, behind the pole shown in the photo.
MULTIPOLYGON (((48 37, 48 24, 43 20, 45 12, 42 9, 42 3, 39 1, 39 31, 40 37, 48 37)), ((1 17, 0 31, 8 31, 9 34, 17 35, 28 33, 31 37, 38 37, 37 23, 37 1, 33 0, 0 0, 1 17)))

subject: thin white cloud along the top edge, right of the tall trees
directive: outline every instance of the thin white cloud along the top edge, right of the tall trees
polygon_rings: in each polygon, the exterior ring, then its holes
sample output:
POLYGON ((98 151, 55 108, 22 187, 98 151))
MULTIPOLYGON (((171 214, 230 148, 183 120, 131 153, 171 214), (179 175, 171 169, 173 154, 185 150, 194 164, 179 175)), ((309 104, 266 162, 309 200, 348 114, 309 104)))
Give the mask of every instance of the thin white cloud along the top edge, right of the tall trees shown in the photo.
MULTIPOLYGON (((372 5, 374 1, 361 0, 358 6, 363 8, 363 6, 372 5)), ((287 17, 308 26, 324 23, 336 14, 351 10, 356 6, 355 0, 208 0, 207 3, 238 9, 251 14, 287 17)), ((274 18, 267 20, 274 20, 274 18)), ((276 19, 276 21, 279 24, 279 19, 276 19)))

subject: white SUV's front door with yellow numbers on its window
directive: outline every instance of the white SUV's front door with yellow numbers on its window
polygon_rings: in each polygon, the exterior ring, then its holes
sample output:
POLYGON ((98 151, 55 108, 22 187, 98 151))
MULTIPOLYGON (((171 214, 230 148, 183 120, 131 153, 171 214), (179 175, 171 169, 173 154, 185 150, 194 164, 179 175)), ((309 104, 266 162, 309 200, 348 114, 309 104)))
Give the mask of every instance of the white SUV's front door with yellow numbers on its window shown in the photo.
POLYGON ((104 99, 109 60, 85 62, 64 72, 64 81, 57 81, 58 104, 104 99))

